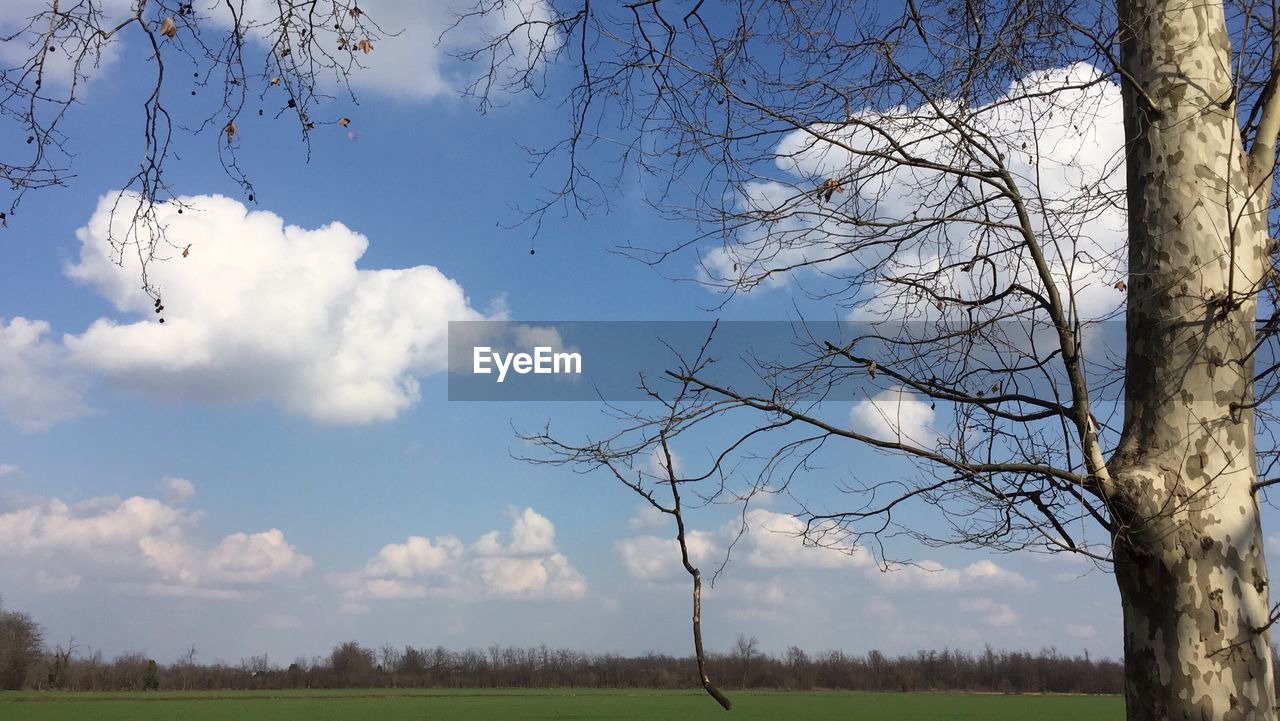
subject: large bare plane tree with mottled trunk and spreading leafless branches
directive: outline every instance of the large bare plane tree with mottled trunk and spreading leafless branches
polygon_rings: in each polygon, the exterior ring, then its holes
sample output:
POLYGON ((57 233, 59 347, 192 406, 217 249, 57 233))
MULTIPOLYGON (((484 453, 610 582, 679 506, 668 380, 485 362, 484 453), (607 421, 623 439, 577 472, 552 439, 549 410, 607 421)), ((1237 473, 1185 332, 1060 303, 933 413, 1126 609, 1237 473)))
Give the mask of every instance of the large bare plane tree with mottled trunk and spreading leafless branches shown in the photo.
MULTIPOLYGON (((767 392, 690 350, 649 387, 657 412, 616 409, 603 439, 532 434, 543 461, 603 469, 681 520, 680 493, 803 501, 836 442, 908 457, 918 474, 803 508, 808 540, 884 565, 895 535, 1085 555, 1120 589, 1129 718, 1275 717, 1258 514, 1276 458, 1272 4, 559 9, 544 50, 572 69, 571 132, 545 159, 563 184, 531 218, 607 207, 639 169, 698 232, 626 252, 696 257, 687 278, 726 297, 790 282, 870 321, 800 333, 806 361, 759 364, 767 392), (1091 155, 1112 127, 1114 154, 1091 155), (1089 342, 1108 320, 1123 351, 1089 342), (890 433, 850 428, 833 401, 852 383, 950 421, 911 437, 890 410, 890 433), (648 470, 712 423, 744 430, 700 467, 648 470), (938 523, 902 525, 909 506, 938 523)), ((518 78, 495 67, 477 91, 497 77, 518 78)))

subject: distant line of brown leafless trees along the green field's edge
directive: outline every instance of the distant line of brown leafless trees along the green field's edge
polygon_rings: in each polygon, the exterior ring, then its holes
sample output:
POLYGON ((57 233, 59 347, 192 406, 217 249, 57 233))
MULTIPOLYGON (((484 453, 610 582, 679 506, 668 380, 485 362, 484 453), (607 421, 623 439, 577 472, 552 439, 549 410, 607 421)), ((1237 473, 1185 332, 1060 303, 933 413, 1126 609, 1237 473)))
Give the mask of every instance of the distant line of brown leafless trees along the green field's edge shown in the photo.
MULTIPOLYGON (((40 626, 26 613, 0 608, 0 688, 115 690, 333 689, 333 688, 613 688, 682 689, 698 684, 694 658, 648 653, 620 656, 564 648, 338 644, 328 656, 288 665, 266 656, 237 663, 197 661, 189 648, 173 663, 142 653, 106 660, 74 643, 46 648, 40 626)), ((1120 693, 1123 667, 1101 658, 995 651, 920 651, 888 657, 878 651, 806 653, 791 647, 764 653, 740 636, 710 656, 709 671, 724 688, 847 690, 975 690, 1004 693, 1120 693)))

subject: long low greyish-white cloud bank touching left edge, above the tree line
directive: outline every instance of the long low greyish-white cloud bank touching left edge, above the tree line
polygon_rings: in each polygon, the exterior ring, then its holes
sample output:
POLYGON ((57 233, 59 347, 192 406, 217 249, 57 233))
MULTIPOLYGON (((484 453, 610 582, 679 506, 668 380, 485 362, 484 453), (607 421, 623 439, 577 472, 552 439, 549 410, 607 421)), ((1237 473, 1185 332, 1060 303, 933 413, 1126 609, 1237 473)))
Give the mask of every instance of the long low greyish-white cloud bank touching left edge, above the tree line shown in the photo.
POLYGON ((35 569, 37 588, 70 590, 86 578, 151 593, 236 598, 311 567, 279 529, 233 533, 212 547, 191 538, 201 514, 155 498, 29 499, 0 512, 0 552, 35 569))

